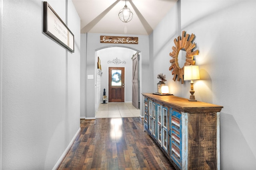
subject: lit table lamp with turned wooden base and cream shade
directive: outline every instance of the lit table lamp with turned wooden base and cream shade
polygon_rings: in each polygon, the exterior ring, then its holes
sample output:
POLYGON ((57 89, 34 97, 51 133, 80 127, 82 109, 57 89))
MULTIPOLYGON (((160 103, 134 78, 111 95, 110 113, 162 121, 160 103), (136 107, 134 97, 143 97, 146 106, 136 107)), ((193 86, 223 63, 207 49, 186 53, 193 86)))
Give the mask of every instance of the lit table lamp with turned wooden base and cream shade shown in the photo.
POLYGON ((195 91, 194 91, 193 80, 198 80, 198 79, 200 79, 198 66, 195 66, 195 65, 184 66, 184 80, 190 80, 190 91, 189 92, 191 95, 188 100, 190 102, 197 101, 194 96, 195 91))

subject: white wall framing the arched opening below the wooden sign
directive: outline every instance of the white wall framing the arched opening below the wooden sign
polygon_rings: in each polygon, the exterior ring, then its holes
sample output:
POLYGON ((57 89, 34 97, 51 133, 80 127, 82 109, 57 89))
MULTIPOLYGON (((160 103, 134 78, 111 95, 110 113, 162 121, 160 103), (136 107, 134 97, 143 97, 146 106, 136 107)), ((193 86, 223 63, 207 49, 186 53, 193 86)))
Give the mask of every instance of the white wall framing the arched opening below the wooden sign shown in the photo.
MULTIPOLYGON (((136 45, 130 45, 100 43, 100 41, 98 41, 100 35, 101 34, 98 33, 81 34, 80 117, 85 119, 95 119, 96 51, 99 51, 100 49, 124 47, 140 53, 140 108, 142 108, 143 103, 143 96, 141 93, 154 91, 154 85, 151 83, 153 80, 153 67, 151 67, 152 58, 150 57, 153 55, 153 51, 150 50, 149 37, 138 35, 140 42, 136 45), (91 76, 93 78, 91 78, 91 76)), ((140 109, 140 117, 144 117, 142 109, 140 109)))

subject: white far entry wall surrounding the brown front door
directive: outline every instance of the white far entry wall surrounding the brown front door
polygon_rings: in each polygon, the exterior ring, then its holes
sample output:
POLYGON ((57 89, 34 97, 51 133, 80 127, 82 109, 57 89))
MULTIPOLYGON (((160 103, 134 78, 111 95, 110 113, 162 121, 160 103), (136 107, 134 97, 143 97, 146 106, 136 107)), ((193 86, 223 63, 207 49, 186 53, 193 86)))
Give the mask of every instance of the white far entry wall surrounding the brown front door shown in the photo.
MULTIPOLYGON (((108 68, 109 67, 124 67, 125 73, 125 102, 132 102, 132 56, 137 51, 128 48, 122 47, 111 47, 101 49, 96 51, 96 58, 100 57, 100 62, 102 66, 102 77, 101 77, 101 89, 100 96, 102 101, 103 90, 106 89, 106 95, 108 95, 108 68), (112 61, 113 59, 120 59, 120 61, 125 61, 125 63, 114 64, 108 63, 108 61, 112 61)), ((108 101, 106 101, 108 102, 108 101)))

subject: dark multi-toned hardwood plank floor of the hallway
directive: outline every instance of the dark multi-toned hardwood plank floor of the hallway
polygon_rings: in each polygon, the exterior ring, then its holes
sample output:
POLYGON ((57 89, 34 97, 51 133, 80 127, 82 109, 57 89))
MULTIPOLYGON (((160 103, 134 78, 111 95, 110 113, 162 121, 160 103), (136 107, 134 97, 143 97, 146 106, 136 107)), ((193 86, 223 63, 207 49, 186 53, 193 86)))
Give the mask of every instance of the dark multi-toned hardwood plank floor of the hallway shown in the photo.
POLYGON ((81 131, 58 170, 174 170, 140 117, 80 120, 81 131))

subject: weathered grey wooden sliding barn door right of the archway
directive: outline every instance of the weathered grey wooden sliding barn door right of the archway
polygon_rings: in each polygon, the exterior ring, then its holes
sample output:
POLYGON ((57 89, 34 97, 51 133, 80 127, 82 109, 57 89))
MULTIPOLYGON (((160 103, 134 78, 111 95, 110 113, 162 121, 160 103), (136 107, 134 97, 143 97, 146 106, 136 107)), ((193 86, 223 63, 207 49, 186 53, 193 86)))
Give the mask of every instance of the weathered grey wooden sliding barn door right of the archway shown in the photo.
POLYGON ((138 53, 132 57, 132 105, 138 109, 138 53))

